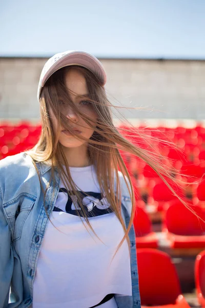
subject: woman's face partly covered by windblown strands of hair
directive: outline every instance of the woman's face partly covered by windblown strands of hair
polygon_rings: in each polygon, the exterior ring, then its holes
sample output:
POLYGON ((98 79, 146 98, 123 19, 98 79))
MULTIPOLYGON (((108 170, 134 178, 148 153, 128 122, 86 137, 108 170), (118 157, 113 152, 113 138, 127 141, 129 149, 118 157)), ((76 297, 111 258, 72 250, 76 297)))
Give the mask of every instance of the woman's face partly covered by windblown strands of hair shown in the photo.
MULTIPOLYGON (((65 75, 65 85, 69 91, 70 98, 74 104, 80 109, 80 111, 86 113, 93 121, 96 120, 96 114, 92 108, 91 103, 87 102, 89 94, 86 79, 84 75, 77 71, 75 68, 70 69, 65 75), (80 97, 80 95, 85 95, 85 97, 80 97)), ((67 117, 69 124, 73 129, 79 131, 79 135, 86 138, 87 140, 92 136, 94 129, 92 129, 79 114, 76 114, 69 104, 62 103, 60 105, 61 112, 67 117)), ((52 118, 53 126, 57 127, 57 120, 51 108, 49 108, 49 113, 52 118)), ((74 148, 82 145, 86 145, 87 142, 84 140, 79 140, 77 137, 71 135, 70 133, 63 131, 61 127, 59 142, 66 148, 74 148)), ((77 132, 78 133, 78 132, 77 132)))

